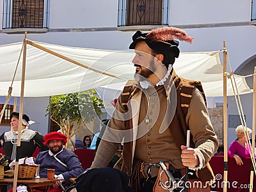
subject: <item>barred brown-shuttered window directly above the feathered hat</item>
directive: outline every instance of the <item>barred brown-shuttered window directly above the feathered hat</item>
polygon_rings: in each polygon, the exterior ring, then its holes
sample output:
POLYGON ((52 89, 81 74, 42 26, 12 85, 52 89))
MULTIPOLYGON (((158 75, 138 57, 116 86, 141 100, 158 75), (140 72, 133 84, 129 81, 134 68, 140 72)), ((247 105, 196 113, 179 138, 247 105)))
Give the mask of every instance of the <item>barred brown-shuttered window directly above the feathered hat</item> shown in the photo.
POLYGON ((119 0, 118 26, 168 25, 168 0, 119 0))

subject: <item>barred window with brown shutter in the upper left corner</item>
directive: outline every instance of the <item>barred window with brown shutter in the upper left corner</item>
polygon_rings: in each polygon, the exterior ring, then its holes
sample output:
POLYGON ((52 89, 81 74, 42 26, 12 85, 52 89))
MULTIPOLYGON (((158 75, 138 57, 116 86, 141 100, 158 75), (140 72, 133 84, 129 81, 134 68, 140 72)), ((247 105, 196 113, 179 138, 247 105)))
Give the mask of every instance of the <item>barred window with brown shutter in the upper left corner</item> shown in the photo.
POLYGON ((47 28, 49 0, 5 0, 3 29, 47 28))

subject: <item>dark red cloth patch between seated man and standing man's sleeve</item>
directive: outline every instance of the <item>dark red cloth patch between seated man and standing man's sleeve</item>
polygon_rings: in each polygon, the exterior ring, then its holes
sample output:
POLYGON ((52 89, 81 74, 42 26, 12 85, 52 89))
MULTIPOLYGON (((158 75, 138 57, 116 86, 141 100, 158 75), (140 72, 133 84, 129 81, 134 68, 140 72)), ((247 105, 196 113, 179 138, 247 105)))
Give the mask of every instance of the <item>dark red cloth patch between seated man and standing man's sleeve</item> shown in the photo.
POLYGON ((90 168, 95 157, 94 149, 76 149, 74 153, 77 155, 84 170, 86 170, 86 168, 90 168))

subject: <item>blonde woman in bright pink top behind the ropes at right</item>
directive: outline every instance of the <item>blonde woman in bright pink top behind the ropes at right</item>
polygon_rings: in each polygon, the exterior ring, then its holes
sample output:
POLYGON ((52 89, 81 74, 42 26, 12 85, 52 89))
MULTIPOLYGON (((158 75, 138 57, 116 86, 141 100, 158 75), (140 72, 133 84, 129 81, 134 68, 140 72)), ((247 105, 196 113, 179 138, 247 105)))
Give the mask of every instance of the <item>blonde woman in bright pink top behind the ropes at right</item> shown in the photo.
MULTIPOLYGON (((250 133, 252 129, 245 128, 250 139, 250 133)), ((237 165, 243 165, 242 158, 250 158, 250 145, 248 144, 246 137, 244 135, 244 128, 242 125, 237 126, 236 128, 237 140, 234 140, 228 149, 228 157, 234 158, 237 165)))

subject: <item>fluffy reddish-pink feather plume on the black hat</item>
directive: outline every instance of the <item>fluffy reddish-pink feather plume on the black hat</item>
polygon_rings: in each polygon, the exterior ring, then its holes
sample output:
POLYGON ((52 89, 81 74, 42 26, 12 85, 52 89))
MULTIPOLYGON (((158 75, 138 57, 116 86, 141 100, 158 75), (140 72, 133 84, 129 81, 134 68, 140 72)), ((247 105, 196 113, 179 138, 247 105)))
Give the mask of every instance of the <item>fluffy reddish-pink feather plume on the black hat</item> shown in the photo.
POLYGON ((151 41, 180 40, 187 41, 188 43, 192 43, 194 40, 194 38, 187 35, 186 31, 176 27, 157 27, 156 29, 152 29, 150 32, 148 32, 146 38, 151 41))

